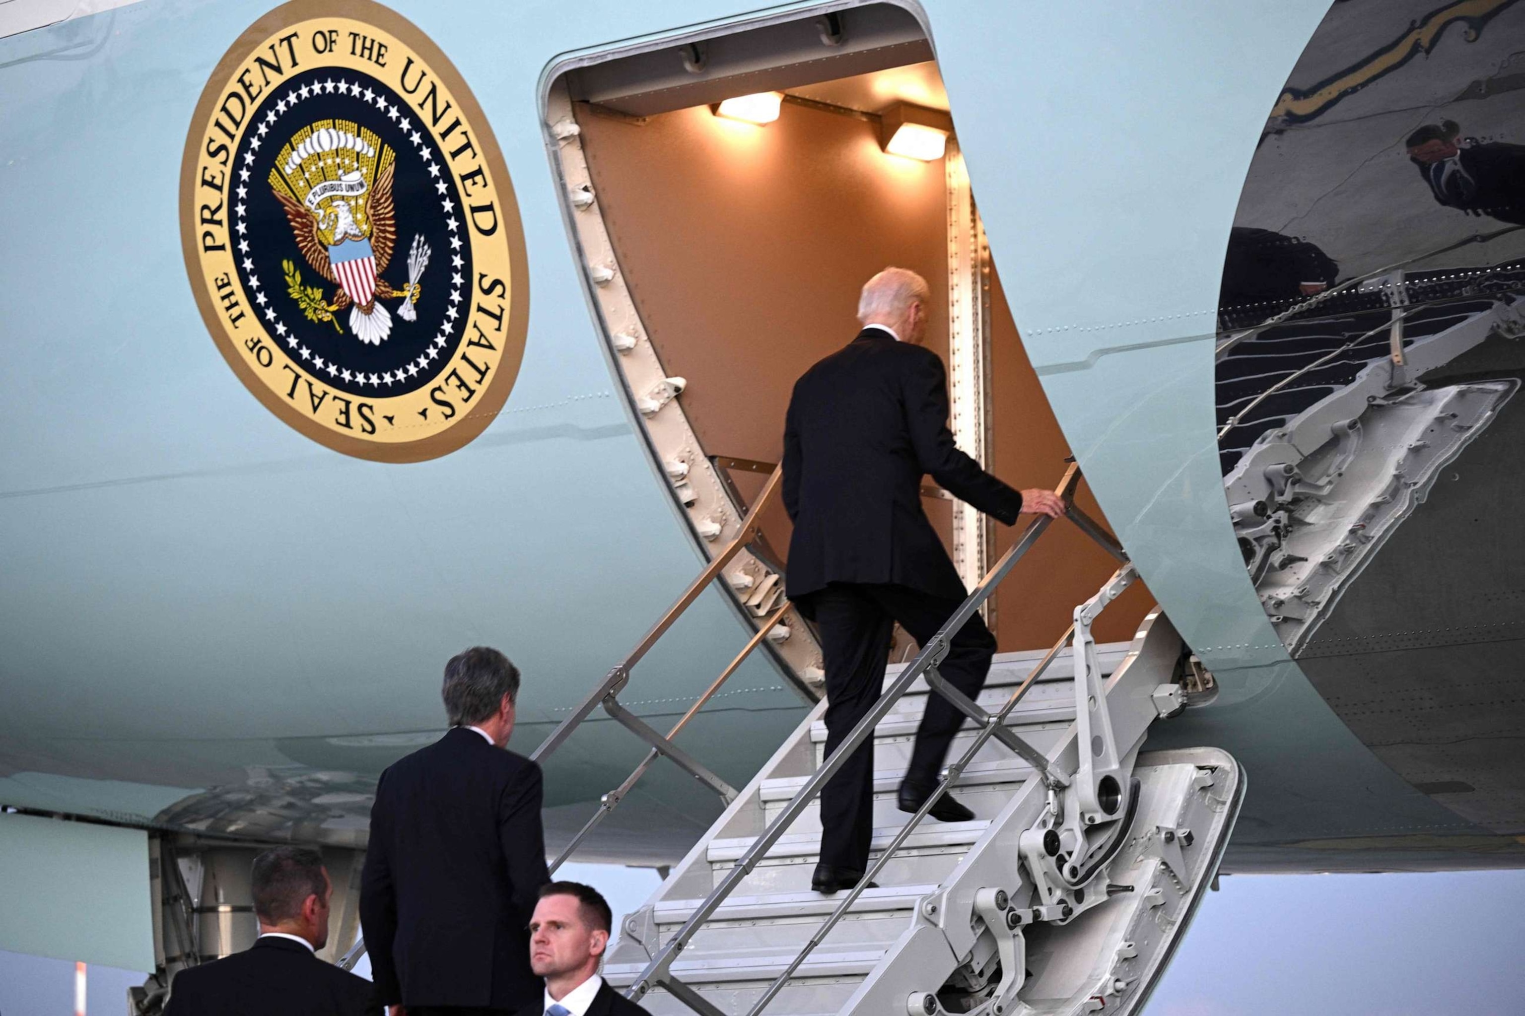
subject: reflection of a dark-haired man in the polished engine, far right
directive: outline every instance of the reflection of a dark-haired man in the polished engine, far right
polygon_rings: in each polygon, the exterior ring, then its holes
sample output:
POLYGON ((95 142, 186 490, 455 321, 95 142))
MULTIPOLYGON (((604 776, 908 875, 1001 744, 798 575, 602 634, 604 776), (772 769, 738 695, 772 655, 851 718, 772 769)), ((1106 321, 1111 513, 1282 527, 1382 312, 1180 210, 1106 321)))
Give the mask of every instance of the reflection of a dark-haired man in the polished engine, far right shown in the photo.
POLYGON ((1525 224, 1525 145, 1461 137, 1456 121, 1424 124, 1403 143, 1441 204, 1525 224))

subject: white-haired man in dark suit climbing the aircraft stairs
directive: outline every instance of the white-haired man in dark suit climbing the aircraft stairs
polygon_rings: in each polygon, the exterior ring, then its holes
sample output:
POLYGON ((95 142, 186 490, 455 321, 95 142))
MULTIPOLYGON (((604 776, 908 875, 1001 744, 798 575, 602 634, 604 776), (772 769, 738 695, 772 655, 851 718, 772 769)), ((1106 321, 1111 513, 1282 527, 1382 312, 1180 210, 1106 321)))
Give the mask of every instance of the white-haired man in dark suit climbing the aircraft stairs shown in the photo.
MULTIPOLYGON (((949 432, 947 374, 920 343, 927 284, 884 268, 863 287, 863 331, 795 384, 784 427, 784 506, 795 522, 788 596, 820 630, 827 670, 827 752, 883 690, 898 621, 926 644, 967 596, 921 508, 921 477, 1006 525, 1019 513, 1058 516, 1048 490, 1017 493, 958 450, 949 432)), ((953 636, 942 676, 973 697, 985 683, 996 638, 976 613, 953 636)), ((936 786, 962 714, 933 694, 900 784, 903 812, 936 786)), ((944 796, 930 812, 962 822, 973 812, 944 796)), ((865 741, 820 795, 820 863, 811 886, 851 888, 868 868, 874 831, 874 741, 865 741)))

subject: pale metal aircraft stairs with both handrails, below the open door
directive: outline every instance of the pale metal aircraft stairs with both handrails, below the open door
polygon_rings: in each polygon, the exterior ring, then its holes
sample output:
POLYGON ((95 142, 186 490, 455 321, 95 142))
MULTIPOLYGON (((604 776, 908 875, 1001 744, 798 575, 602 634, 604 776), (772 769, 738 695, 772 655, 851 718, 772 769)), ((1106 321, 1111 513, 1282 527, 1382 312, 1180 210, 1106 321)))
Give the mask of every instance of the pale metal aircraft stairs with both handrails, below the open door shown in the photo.
MULTIPOLYGON (((976 700, 936 671, 949 635, 1049 525, 1040 517, 921 654, 888 670, 880 702, 839 752, 825 757, 820 702, 737 790, 673 737, 787 604, 668 735, 625 712, 618 694, 677 615, 756 539, 755 520, 778 488, 775 471, 741 534, 535 752, 555 751, 599 706, 651 746, 552 868, 660 757, 727 801, 647 905, 621 921, 604 964, 615 987, 656 1016, 1110 1014, 1142 1005, 1215 876, 1244 776, 1217 749, 1141 751, 1150 725, 1185 706, 1193 685, 1182 673, 1196 671, 1183 671, 1188 653, 1159 612, 1132 644, 1092 639, 1096 615, 1135 575, 1122 548, 1071 503, 1078 479, 1071 465, 1057 488, 1066 519, 1121 567, 1075 607, 1074 624, 1051 650, 999 656, 976 700), (930 694, 947 696, 970 723, 953 741, 938 792, 904 815, 895 790, 930 694), (820 895, 810 888, 817 795, 868 737, 875 744, 868 877, 852 891, 820 895), (923 821, 950 787, 976 819, 923 821), (866 888, 869 880, 877 888, 866 888)), ((346 960, 357 955, 358 947, 346 960)))

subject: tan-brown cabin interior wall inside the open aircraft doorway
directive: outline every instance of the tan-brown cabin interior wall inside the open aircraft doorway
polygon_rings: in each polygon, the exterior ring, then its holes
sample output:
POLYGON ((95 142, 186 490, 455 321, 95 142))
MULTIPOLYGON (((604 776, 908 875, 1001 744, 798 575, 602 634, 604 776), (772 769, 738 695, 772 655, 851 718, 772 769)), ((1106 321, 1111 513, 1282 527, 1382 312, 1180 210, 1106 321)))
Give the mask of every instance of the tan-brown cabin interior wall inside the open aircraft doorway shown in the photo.
MULTIPOLYGON (((766 127, 708 107, 644 124, 578 107, 578 124, 619 270, 663 369, 688 380, 680 401, 705 453, 778 461, 795 380, 857 333, 859 288, 888 264, 927 279, 927 346, 947 358, 941 160, 886 156, 875 124, 795 104, 766 127)), ((993 471, 1016 487, 1052 485, 1069 452, 999 282, 991 363, 993 471)), ((744 496, 761 485, 737 479, 744 496)), ((950 503, 924 505, 950 543, 950 503)), ((782 508, 764 529, 782 555, 782 508)), ((1013 534, 1000 528, 997 552, 1013 534)), ((1064 525, 1019 569, 1000 590, 1002 650, 1052 642, 1112 571, 1064 525)), ((1132 638, 1150 601, 1130 596, 1104 615, 1098 638, 1132 638)))

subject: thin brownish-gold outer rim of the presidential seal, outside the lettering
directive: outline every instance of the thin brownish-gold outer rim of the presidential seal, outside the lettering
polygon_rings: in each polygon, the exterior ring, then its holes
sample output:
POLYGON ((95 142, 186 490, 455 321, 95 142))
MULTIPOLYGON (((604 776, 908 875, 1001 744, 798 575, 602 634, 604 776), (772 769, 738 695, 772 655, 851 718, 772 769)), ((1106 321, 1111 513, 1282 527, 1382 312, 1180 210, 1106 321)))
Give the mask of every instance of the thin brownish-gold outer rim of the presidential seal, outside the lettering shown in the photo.
MULTIPOLYGON (((374 0, 290 0, 290 3, 265 12, 244 29, 233 40, 233 44, 229 46, 227 52, 223 53, 217 67, 212 69, 206 87, 201 90, 201 98, 197 101, 191 128, 186 133, 185 153, 180 160, 178 214, 180 247, 185 255, 186 276, 191 282, 197 308, 201 311, 201 320, 210 333, 217 351, 233 368, 233 374, 238 375, 242 386, 264 403, 265 409, 303 436, 334 452, 374 462, 422 462, 450 455, 470 444, 477 435, 486 430, 488 424, 493 423, 493 418, 503 407, 503 403, 508 401, 508 394, 518 380, 518 368, 525 358, 525 337, 529 331, 529 262, 525 252, 525 229, 518 215, 518 198, 514 192, 514 182, 508 175, 508 165, 503 162, 503 154, 497 146, 493 125, 488 122, 482 107, 477 105, 476 95, 473 95, 461 72, 456 70, 456 66, 450 63, 444 50, 422 29, 396 11, 374 3, 374 0), (290 406, 244 362, 232 336, 223 326, 221 313, 212 293, 207 291, 201 281, 203 264, 200 235, 197 232, 198 226, 195 223, 195 171, 200 162, 201 143, 206 139, 206 127, 212 121, 215 104, 223 98, 229 78, 249 58, 255 46, 291 24, 319 17, 340 17, 361 24, 374 24, 412 47, 427 70, 450 88, 458 107, 465 114, 467 124, 473 128, 473 139, 480 145, 482 160, 493 174, 494 191, 499 198, 499 223, 503 236, 485 241, 508 246, 508 320, 503 328, 503 349, 497 363, 497 377, 488 383, 480 398, 476 400, 476 406, 462 413, 461 420, 418 441, 368 441, 337 433, 290 406)), ((232 236, 232 227, 229 227, 229 235, 232 236)))

